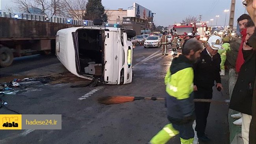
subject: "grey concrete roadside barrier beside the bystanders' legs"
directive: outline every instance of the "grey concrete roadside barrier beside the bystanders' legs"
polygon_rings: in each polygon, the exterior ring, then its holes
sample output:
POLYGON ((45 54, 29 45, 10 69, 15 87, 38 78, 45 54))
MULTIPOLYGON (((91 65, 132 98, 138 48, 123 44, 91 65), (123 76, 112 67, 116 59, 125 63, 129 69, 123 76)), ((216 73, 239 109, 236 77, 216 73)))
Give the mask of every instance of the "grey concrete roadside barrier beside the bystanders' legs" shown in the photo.
MULTIPOLYGON (((228 73, 228 87, 229 87, 229 96, 231 98, 234 86, 237 80, 236 70, 230 68, 228 73)), ((228 111, 228 122, 229 122, 229 132, 230 132, 230 144, 243 144, 243 139, 241 135, 241 126, 234 125, 233 122, 237 118, 232 118, 230 115, 237 114, 239 112, 229 109, 228 111)))

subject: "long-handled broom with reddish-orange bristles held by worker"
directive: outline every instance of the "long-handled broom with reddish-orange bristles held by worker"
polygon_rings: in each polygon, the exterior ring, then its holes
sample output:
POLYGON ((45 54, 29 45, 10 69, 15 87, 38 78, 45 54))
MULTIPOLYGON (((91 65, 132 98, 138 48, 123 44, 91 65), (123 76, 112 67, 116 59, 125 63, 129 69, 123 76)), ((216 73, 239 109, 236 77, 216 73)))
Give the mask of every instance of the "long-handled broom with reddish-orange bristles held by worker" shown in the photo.
MULTIPOLYGON (((98 103, 111 105, 117 103, 133 102, 135 100, 165 100, 165 98, 156 97, 141 97, 141 96, 104 96, 98 98, 98 103)), ((211 99, 194 99, 194 102, 207 102, 207 103, 229 103, 230 100, 216 101, 211 99)))

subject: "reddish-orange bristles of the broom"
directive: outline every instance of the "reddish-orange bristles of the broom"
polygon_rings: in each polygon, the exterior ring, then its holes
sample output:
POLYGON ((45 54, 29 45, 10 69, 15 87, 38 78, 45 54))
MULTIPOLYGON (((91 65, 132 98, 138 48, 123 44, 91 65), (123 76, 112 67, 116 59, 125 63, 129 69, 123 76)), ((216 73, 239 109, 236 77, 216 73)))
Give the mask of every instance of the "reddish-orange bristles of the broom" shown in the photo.
POLYGON ((105 105, 132 102, 132 101, 134 101, 134 96, 106 96, 106 97, 98 98, 98 102, 105 105))

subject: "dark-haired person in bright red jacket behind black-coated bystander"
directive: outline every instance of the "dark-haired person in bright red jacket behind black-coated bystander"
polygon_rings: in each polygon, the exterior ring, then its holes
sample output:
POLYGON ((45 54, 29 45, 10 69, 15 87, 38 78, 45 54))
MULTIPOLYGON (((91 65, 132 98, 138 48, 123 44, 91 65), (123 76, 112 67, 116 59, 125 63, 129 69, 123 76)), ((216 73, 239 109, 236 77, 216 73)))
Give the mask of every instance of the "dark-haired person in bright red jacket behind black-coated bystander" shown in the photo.
POLYGON ((243 42, 245 41, 245 37, 246 37, 246 26, 247 26, 247 22, 249 20, 251 20, 251 18, 248 14, 243 14, 239 18, 237 18, 237 22, 238 22, 239 28, 241 30, 242 42, 240 44, 237 59, 236 59, 236 72, 240 71, 241 66, 245 62, 245 60, 243 59, 242 49, 243 49, 243 42))

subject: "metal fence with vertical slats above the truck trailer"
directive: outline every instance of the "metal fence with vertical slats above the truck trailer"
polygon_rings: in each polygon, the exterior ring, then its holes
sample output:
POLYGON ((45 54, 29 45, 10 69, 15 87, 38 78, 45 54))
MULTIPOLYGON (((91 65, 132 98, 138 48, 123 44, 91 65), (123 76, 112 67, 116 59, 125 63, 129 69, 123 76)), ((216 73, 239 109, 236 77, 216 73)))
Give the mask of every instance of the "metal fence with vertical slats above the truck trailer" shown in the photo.
MULTIPOLYGON (((92 20, 74 20, 72 18, 63 18, 63 17, 45 17, 45 15, 41 14, 32 14, 32 13, 19 13, 12 14, 0 11, 0 17, 5 18, 16 18, 23 20, 35 20, 35 21, 44 21, 44 22, 54 22, 59 24, 72 24, 75 26, 96 26, 93 24, 92 20)), ((108 24, 104 22, 101 26, 106 27, 115 27, 114 24, 108 24), (105 24, 105 25, 104 25, 105 24)))

